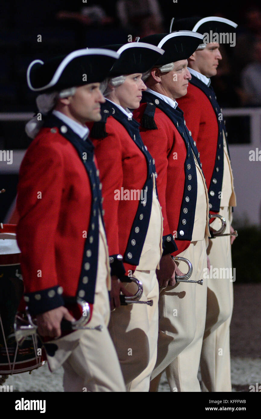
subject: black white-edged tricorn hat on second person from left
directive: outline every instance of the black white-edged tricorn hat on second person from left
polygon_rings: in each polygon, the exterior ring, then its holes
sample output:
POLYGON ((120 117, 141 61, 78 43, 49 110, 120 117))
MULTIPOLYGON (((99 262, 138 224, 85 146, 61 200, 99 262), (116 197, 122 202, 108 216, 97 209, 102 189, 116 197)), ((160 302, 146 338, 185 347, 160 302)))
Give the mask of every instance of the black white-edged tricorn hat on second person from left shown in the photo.
POLYGON ((145 73, 164 53, 164 49, 157 47, 157 45, 145 44, 144 42, 106 45, 103 48, 112 49, 120 54, 119 59, 117 59, 110 71, 111 77, 145 73))

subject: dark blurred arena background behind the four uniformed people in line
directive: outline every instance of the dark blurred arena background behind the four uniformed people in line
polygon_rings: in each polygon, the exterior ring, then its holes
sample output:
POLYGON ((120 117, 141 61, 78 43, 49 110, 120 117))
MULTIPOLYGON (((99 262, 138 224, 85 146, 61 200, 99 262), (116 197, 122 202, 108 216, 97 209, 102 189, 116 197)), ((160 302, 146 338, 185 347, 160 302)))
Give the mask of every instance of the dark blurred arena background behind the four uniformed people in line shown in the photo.
MULTIPOLYGON (((251 386, 261 385, 260 2, 2 1, 0 190, 5 189, 5 193, 0 194, 0 222, 15 222, 18 171, 29 145, 24 126, 36 110, 35 95, 26 83, 30 62, 45 61, 74 49, 123 44, 134 41, 136 36, 168 33, 172 17, 194 15, 221 16, 238 23, 235 46, 221 45, 223 60, 211 83, 227 122, 237 194, 233 227, 238 230, 238 238, 232 246, 235 268, 230 330, 232 391, 250 392, 251 386), (251 95, 251 88, 255 94, 251 95), (3 150, 12 151, 12 160, 3 158, 3 150)), ((44 365, 30 375, 28 372, 9 375, 5 385, 13 385, 16 392, 62 392, 62 375, 62 368, 51 375, 44 365)), ((169 391, 165 375, 159 391, 169 391)))

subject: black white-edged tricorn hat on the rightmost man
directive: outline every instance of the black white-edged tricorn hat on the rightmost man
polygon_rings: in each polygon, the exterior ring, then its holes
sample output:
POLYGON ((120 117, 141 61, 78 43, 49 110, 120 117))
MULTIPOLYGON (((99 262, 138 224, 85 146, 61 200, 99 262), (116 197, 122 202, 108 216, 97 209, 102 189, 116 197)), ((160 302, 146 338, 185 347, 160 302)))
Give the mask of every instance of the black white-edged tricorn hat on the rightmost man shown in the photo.
POLYGON ((192 18, 174 19, 170 23, 170 32, 172 31, 193 31, 199 34, 230 32, 232 28, 236 28, 237 23, 229 19, 220 18, 219 16, 208 16, 200 18, 195 16, 192 18))

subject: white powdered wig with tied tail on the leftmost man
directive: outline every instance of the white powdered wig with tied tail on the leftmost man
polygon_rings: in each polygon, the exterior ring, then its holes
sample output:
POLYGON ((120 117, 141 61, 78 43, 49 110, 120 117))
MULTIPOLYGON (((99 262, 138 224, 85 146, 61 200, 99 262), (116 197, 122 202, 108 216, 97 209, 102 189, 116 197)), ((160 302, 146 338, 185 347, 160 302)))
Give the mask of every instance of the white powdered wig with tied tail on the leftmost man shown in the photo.
POLYGON ((37 136, 44 123, 43 116, 46 116, 48 112, 50 112, 55 107, 58 98, 68 98, 68 96, 73 96, 75 92, 76 87, 72 87, 69 89, 64 89, 60 92, 42 93, 41 95, 37 96, 36 104, 39 113, 42 116, 39 120, 39 115, 36 115, 30 119, 29 122, 27 122, 25 126, 25 132, 28 137, 34 138, 37 136))

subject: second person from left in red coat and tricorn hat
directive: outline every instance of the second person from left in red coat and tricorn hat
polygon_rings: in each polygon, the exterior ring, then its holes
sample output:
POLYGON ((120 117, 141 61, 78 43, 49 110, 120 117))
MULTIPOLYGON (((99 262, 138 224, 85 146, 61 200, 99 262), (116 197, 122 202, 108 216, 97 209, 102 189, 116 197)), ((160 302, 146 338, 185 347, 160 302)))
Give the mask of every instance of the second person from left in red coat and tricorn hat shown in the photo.
MULTIPOLYGON (((149 391, 157 358, 158 298, 160 277, 175 284, 175 264, 170 256, 176 246, 164 229, 157 199, 154 159, 143 144, 139 125, 129 109, 138 108, 146 86, 141 80, 164 52, 154 45, 128 43, 108 48, 120 58, 104 86, 106 103, 102 122, 95 123, 91 138, 99 166, 104 197, 104 221, 112 268, 112 311, 109 331, 120 359, 128 391, 149 391), (162 256, 163 247, 163 256, 162 256), (159 266, 159 261, 161 264, 159 266), (124 273, 143 284, 141 300, 153 305, 119 307, 119 284, 124 273)), ((133 285, 128 290, 135 292, 133 285)))

